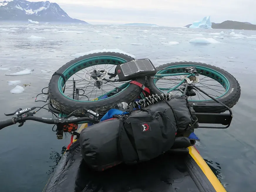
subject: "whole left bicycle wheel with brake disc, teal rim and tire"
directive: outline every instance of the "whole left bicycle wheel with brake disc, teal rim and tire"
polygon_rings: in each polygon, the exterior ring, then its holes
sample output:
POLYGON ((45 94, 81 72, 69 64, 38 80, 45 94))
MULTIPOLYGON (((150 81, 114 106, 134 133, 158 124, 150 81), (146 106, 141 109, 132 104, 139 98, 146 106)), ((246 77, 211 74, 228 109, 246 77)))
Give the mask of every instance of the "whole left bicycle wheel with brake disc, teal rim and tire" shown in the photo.
MULTIPOLYGON (((116 65, 130 60, 134 58, 114 52, 92 53, 71 60, 52 76, 48 86, 50 102, 66 114, 80 108, 104 113, 119 102, 133 102, 141 93, 137 85, 129 84, 129 81, 107 81, 116 65), (107 85, 112 88, 106 89, 107 85)), ((118 76, 111 80, 116 78, 118 76)), ((145 78, 136 81, 144 84, 145 78)), ((78 110, 74 116, 81 117, 84 115, 82 113, 84 110, 78 110)))

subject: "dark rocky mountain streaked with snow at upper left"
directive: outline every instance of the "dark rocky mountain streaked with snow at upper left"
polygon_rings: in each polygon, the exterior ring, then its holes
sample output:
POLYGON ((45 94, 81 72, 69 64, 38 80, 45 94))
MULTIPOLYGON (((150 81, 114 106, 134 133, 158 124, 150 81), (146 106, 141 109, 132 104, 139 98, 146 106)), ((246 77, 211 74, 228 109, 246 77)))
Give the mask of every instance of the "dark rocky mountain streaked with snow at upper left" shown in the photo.
POLYGON ((33 21, 84 23, 73 19, 57 3, 49 1, 30 2, 25 0, 8 0, 0 2, 0 21, 33 21))

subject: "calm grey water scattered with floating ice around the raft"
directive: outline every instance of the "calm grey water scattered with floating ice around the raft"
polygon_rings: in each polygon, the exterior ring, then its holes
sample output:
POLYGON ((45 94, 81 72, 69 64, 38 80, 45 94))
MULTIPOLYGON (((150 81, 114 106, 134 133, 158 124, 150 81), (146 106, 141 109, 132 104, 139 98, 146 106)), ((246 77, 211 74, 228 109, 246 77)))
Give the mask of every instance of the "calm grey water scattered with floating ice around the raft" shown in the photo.
MULTIPOLYGON (((234 118, 226 130, 198 129, 198 150, 227 191, 255 190, 256 130, 255 82, 256 31, 199 30, 188 28, 83 26, 83 25, 8 25, 0 23, 0 119, 18 108, 41 106, 34 97, 41 92, 63 64, 76 53, 118 48, 149 58, 156 65, 174 61, 197 61, 227 70, 240 82, 242 94, 232 108, 234 118), (224 34, 210 34, 219 33, 224 34), (30 39, 31 35, 45 39, 30 39), (193 38, 214 38, 223 43, 191 44, 193 38), (224 37, 224 38, 218 38, 224 37), (168 42, 177 41, 178 45, 168 42), (164 42, 164 43, 162 43, 164 42), (9 77, 5 74, 34 69, 30 75, 9 77), (48 70, 48 72, 42 72, 48 70), (22 94, 10 92, 21 80, 22 94)), ((212 41, 212 40, 210 40, 212 41)), ((76 54, 76 55, 75 55, 76 54)), ((50 117, 41 110, 40 116, 50 117)), ((42 191, 49 172, 59 159, 70 137, 57 140, 51 125, 26 122, 0 132, 0 191, 42 191)))

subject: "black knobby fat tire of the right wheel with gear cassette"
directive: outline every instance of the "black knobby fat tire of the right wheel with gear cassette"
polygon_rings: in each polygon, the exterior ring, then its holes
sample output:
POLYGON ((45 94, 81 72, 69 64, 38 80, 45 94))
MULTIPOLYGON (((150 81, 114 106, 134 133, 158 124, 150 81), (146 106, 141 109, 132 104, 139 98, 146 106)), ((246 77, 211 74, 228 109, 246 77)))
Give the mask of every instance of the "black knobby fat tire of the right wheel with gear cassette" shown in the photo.
MULTIPOLYGON (((238 102, 240 95, 241 95, 240 85, 239 85, 238 81, 233 77, 233 75, 231 75, 227 71, 225 71, 221 68, 215 67, 213 65, 208 65, 206 63, 187 62, 187 61, 166 63, 164 65, 160 65, 160 66, 156 67, 156 69, 158 69, 158 70, 164 69, 166 67, 170 67, 173 65, 200 65, 200 66, 211 68, 213 70, 218 71, 219 73, 224 75, 230 83, 229 91, 222 97, 218 98, 218 101, 222 102, 223 104, 227 105, 230 108, 232 108, 238 102)), ((161 94, 162 93, 159 89, 157 89, 156 85, 154 84, 153 78, 150 78, 150 77, 147 78, 147 86, 149 87, 150 91, 153 94, 161 94)), ((198 102, 195 101, 195 102, 190 102, 190 103, 199 103, 199 102, 200 103, 216 103, 214 100, 198 101, 198 102)), ((214 106, 214 107, 194 106, 193 108, 194 108, 195 112, 198 112, 198 113, 221 113, 221 112, 225 112, 227 110, 225 107, 222 107, 222 106, 214 106)))

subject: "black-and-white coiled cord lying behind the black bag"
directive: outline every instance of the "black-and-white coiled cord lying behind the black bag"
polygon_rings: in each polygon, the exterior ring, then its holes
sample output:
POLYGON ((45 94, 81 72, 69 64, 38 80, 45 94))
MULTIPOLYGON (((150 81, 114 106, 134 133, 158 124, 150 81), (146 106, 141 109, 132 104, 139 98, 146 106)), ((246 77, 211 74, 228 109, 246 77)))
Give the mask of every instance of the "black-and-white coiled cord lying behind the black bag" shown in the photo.
POLYGON ((133 107, 136 108, 138 106, 148 107, 149 105, 155 104, 156 102, 163 101, 163 100, 170 100, 172 96, 172 92, 169 93, 162 93, 161 95, 153 94, 136 101, 133 103, 133 107))

